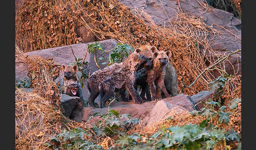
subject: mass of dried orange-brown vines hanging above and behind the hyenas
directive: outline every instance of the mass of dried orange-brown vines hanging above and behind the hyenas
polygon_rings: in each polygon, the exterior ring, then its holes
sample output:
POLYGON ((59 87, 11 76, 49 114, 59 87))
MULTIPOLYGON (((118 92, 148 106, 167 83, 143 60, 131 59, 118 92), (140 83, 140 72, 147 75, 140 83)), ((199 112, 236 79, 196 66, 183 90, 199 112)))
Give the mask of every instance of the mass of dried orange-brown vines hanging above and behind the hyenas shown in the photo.
MULTIPOLYGON (((25 52, 75 44, 78 42, 75 29, 82 25, 97 40, 113 38, 132 47, 149 43, 159 50, 170 49, 171 62, 179 74, 179 93, 193 95, 206 89, 214 78, 210 71, 190 89, 183 88, 181 81, 191 84, 203 69, 221 58, 211 49, 208 39, 210 35, 218 36, 218 32, 206 26, 202 18, 179 13, 166 28, 155 25, 140 10, 131 12, 115 0, 25 1, 16 14, 16 44, 25 52)), ((223 63, 215 70, 225 73, 223 63)))

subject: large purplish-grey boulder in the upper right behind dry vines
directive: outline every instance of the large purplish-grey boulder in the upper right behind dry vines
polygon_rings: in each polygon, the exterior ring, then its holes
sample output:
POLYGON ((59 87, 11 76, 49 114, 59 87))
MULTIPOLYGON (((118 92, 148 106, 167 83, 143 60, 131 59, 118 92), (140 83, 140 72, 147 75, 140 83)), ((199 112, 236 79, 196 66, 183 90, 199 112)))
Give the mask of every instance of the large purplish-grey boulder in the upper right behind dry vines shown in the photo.
MULTIPOLYGON (((168 27, 169 22, 177 17, 176 13, 180 11, 178 10, 180 7, 185 14, 203 17, 206 25, 212 26, 220 32, 219 36, 209 35, 208 37, 210 46, 216 53, 224 55, 241 49, 241 20, 224 10, 204 7, 205 3, 202 0, 122 0, 121 2, 131 9, 143 10, 151 16, 156 25, 165 27, 168 27)), ((206 52, 205 55, 212 54, 206 52)), ((224 63, 227 73, 241 74, 241 54, 232 55, 228 60, 224 63)), ((220 76, 217 71, 213 73, 215 77, 220 76)))

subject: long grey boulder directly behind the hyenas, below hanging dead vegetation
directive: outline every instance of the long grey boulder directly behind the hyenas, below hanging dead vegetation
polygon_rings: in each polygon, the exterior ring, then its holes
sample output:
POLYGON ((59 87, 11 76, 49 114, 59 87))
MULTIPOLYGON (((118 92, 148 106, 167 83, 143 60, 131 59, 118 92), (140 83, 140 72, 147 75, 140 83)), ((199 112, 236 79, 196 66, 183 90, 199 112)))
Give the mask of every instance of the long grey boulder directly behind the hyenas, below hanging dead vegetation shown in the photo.
MULTIPOLYGON (((99 43, 105 51, 109 51, 115 47, 115 45, 117 44, 117 41, 115 41, 113 39, 108 39, 108 40, 99 41, 99 43)), ((92 42, 88 43, 88 44, 84 44, 84 43, 73 44, 73 45, 62 46, 62 47, 36 50, 36 51, 26 52, 25 54, 27 56, 39 55, 43 59, 53 58, 53 61, 55 63, 57 63, 58 65, 67 65, 68 63, 75 62, 75 58, 72 53, 72 48, 74 51, 74 55, 77 58, 83 59, 89 44, 92 44, 92 42)), ((110 52, 102 53, 100 50, 96 51, 97 58, 100 58, 100 57, 103 58, 102 60, 98 60, 99 66, 101 68, 106 67, 107 64, 102 64, 102 62, 107 62, 109 60, 109 54, 110 54, 110 52)), ((85 61, 88 62, 88 66, 87 66, 88 72, 92 73, 99 69, 96 66, 93 54, 87 52, 85 61)), ((18 62, 18 60, 15 61, 15 82, 21 81, 24 78, 26 78, 26 76, 27 76, 27 68, 26 67, 28 67, 28 66, 25 63, 20 63, 20 62, 18 62)), ((61 74, 61 73, 60 73, 60 78, 63 78, 63 74, 61 74)), ((59 81, 62 82, 61 79, 55 80, 56 83, 59 81)), ((83 84, 84 84, 83 89, 82 89, 83 98, 88 98, 89 92, 87 89, 87 82, 84 81, 83 84)), ((96 98, 95 102, 99 103, 99 97, 96 98)))

